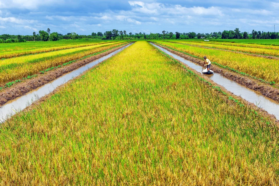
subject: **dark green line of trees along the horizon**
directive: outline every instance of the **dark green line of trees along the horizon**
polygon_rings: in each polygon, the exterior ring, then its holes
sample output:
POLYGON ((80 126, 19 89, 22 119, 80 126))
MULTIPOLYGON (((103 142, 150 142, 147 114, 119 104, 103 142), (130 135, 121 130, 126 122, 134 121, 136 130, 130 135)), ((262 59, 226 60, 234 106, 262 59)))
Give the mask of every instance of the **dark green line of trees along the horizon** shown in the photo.
POLYGON ((279 32, 263 32, 253 30, 249 32, 240 32, 239 28, 235 30, 213 32, 213 33, 179 33, 162 31, 162 33, 127 33, 126 31, 118 31, 113 29, 112 31, 106 31, 104 33, 92 32, 91 35, 78 35, 75 32, 67 33, 66 35, 53 32, 50 33, 50 29, 47 31, 39 31, 39 33, 33 32, 33 35, 0 35, 0 43, 9 42, 26 42, 26 41, 57 41, 68 39, 82 39, 82 40, 154 40, 154 39, 279 39, 279 32))

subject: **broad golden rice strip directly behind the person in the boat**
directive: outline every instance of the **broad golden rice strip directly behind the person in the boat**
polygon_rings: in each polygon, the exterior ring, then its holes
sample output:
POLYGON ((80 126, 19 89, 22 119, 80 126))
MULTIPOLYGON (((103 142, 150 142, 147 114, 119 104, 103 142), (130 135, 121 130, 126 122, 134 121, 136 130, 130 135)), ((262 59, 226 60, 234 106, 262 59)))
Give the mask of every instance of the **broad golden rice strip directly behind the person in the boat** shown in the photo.
POLYGON ((234 71, 243 72, 244 75, 255 76, 264 82, 278 83, 279 70, 278 60, 247 56, 242 53, 231 53, 214 49, 205 49, 201 47, 192 47, 185 44, 176 44, 162 41, 155 41, 158 44, 171 47, 172 49, 202 58, 207 56, 208 59, 224 68, 234 71))

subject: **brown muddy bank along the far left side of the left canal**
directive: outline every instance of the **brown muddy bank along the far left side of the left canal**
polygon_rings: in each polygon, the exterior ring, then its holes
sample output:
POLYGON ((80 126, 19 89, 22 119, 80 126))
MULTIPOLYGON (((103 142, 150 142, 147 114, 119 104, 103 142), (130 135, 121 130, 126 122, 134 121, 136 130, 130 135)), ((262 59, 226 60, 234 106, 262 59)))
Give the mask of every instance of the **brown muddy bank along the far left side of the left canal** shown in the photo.
POLYGON ((26 80, 26 81, 23 81, 16 85, 13 85, 10 88, 3 89, 0 92, 0 106, 4 105, 5 103, 7 103, 8 101, 10 101, 12 99, 15 99, 19 96, 23 96, 24 94, 26 94, 32 90, 35 90, 37 87, 40 87, 46 83, 49 83, 50 81, 55 80, 56 78, 62 76, 63 74, 66 74, 70 71, 78 69, 79 67, 86 65, 89 62, 92 62, 92 61, 99 59, 103 56, 106 56, 120 48, 123 48, 130 43, 131 42, 124 44, 122 46, 119 46, 117 48, 111 49, 109 51, 100 53, 96 56, 92 56, 92 57, 86 58, 84 60, 79 60, 79 61, 71 63, 70 65, 67 65, 65 67, 53 69, 51 71, 45 72, 44 74, 39 74, 37 77, 34 77, 30 80, 26 80))

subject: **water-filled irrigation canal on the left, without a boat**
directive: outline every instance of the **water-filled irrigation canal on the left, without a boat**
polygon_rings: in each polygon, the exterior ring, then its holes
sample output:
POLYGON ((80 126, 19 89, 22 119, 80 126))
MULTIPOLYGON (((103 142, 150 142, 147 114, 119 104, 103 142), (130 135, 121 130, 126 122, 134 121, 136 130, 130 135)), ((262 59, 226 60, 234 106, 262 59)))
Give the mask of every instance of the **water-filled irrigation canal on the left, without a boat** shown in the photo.
POLYGON ((96 59, 90 63, 87 63, 86 65, 81 66, 78 69, 75 69, 67 74, 64 74, 63 76, 41 86, 37 89, 28 92, 27 94, 20 96, 16 99, 13 99, 11 101, 8 101, 5 105, 0 107, 0 123, 3 123, 6 121, 6 119, 10 118, 11 116, 15 115, 17 112, 20 112, 21 110, 25 109, 29 105, 31 105, 33 102, 39 100, 43 96, 53 92, 58 86, 68 82, 69 80, 75 78, 76 76, 82 74, 87 69, 92 68, 94 65, 97 65, 100 62, 103 62, 104 60, 107 60, 111 56, 119 53, 120 51, 124 50, 125 48, 129 47, 133 43, 122 47, 121 49, 118 49, 106 56, 103 56, 99 59, 96 59))

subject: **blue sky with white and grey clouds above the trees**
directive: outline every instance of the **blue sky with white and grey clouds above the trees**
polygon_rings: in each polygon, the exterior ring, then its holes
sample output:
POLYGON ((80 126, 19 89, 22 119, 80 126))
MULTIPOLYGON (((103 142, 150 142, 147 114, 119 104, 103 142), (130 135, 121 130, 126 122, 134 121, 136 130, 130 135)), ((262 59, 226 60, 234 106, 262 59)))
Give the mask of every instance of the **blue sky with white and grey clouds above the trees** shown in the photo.
POLYGON ((279 31, 279 0, 0 0, 0 34, 279 31), (278 28, 277 28, 278 27, 278 28))

